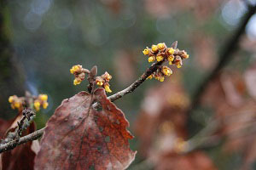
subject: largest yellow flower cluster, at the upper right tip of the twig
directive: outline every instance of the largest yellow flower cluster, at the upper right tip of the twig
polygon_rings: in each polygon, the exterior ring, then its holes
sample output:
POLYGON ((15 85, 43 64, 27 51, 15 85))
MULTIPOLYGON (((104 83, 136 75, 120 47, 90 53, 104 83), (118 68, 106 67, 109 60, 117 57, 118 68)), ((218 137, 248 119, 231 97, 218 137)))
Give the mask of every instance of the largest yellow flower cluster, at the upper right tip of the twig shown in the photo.
MULTIPOLYGON (((148 62, 165 62, 168 61, 169 65, 176 65, 177 68, 182 67, 183 59, 188 59, 189 54, 184 50, 179 50, 178 48, 167 48, 166 43, 159 43, 157 45, 152 45, 151 48, 145 48, 143 54, 148 56, 148 62)), ((153 77, 160 82, 165 80, 165 77, 172 75, 172 70, 168 66, 160 66, 157 71, 155 71, 148 78, 153 77)))

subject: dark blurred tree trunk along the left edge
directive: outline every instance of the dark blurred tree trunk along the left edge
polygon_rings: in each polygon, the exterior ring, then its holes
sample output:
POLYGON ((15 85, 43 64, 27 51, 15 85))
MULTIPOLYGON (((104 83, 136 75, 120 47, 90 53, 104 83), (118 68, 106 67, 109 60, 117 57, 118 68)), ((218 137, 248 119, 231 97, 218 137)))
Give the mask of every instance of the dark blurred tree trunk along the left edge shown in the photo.
MULTIPOLYGON (((11 44, 10 14, 6 1, 0 0, 0 116, 9 118, 10 95, 24 95, 24 74, 11 44)), ((14 111, 15 112, 15 111, 14 111)))

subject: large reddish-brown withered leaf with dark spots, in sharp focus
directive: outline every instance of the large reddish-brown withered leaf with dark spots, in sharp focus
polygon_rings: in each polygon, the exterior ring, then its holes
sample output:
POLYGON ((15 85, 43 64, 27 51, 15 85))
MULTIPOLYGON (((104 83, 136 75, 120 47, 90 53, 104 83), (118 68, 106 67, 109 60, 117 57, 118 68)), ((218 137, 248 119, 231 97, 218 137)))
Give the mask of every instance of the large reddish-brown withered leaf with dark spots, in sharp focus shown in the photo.
POLYGON ((125 169, 134 160, 124 113, 103 88, 93 96, 101 109, 91 107, 86 92, 62 101, 47 122, 35 169, 125 169))

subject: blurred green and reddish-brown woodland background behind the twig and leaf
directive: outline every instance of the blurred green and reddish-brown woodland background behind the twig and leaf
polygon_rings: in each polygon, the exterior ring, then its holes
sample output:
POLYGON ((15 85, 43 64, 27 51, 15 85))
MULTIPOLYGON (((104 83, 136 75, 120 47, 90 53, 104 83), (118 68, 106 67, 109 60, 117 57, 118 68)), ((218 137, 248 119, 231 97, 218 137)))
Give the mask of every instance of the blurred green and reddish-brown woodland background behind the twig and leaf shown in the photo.
POLYGON ((189 54, 181 69, 114 102, 135 135, 128 169, 256 169, 256 1, 0 2, 3 119, 16 114, 10 95, 48 94, 44 127, 62 99, 86 90, 73 86, 73 65, 108 71, 114 94, 150 66, 143 48, 177 41, 189 54))

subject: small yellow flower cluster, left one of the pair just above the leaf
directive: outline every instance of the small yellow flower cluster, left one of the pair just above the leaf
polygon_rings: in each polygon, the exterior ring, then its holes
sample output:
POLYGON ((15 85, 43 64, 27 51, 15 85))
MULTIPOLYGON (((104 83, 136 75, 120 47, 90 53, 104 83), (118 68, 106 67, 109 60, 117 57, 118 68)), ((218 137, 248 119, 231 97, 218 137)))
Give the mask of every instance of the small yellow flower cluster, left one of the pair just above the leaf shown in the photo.
POLYGON ((73 65, 73 67, 70 69, 70 73, 73 74, 75 77, 75 79, 73 80, 73 84, 78 85, 84 80, 85 73, 89 74, 90 71, 84 69, 82 65, 73 65))

